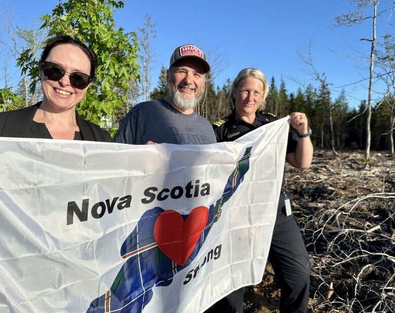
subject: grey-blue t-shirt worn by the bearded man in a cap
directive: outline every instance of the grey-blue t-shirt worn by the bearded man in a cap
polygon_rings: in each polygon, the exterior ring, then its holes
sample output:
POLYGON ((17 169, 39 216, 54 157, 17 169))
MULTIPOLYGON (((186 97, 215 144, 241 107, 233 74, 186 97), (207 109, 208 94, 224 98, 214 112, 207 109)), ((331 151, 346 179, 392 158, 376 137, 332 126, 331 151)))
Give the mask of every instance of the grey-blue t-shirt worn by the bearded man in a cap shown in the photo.
POLYGON ((210 122, 196 112, 183 114, 164 99, 141 102, 126 114, 114 142, 216 143, 210 122))

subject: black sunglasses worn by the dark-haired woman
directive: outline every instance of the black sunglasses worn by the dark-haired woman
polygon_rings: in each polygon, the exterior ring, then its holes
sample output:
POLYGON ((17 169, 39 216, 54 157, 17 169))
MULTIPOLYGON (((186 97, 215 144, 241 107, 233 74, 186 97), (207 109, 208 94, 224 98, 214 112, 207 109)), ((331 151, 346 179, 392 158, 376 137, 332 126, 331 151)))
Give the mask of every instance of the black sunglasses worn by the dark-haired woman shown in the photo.
POLYGON ((65 73, 69 74, 70 85, 76 89, 85 89, 92 82, 90 75, 82 72, 66 72, 63 67, 56 63, 43 61, 42 68, 44 75, 51 81, 59 81, 65 73))

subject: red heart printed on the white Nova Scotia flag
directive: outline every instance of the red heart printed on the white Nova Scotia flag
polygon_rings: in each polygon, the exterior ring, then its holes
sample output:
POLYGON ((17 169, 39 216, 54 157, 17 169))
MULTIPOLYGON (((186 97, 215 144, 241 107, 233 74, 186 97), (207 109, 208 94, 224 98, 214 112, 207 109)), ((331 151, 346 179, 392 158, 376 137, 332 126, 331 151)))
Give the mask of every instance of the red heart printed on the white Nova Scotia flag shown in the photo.
POLYGON ((196 207, 184 221, 174 210, 161 213, 153 226, 153 236, 167 257, 183 266, 191 255, 209 218, 209 209, 196 207))

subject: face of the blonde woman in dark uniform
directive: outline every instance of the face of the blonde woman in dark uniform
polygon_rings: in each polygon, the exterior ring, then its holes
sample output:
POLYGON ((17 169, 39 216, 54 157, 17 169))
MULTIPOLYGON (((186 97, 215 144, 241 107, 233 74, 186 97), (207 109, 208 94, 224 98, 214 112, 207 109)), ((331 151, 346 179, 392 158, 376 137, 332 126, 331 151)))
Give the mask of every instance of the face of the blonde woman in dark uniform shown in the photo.
POLYGON ((255 119, 255 112, 263 101, 263 83, 253 76, 241 80, 232 90, 236 115, 245 120, 255 119))

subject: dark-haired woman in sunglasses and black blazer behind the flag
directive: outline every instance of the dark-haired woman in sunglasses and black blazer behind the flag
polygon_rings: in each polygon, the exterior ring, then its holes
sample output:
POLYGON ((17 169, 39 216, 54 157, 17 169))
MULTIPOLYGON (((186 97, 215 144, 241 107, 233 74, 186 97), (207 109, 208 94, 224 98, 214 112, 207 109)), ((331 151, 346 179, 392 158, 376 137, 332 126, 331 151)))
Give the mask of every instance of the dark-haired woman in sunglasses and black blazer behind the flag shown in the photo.
POLYGON ((95 76, 95 53, 70 36, 57 36, 38 62, 43 101, 0 113, 0 136, 112 142, 99 126, 80 118, 75 106, 95 76))

